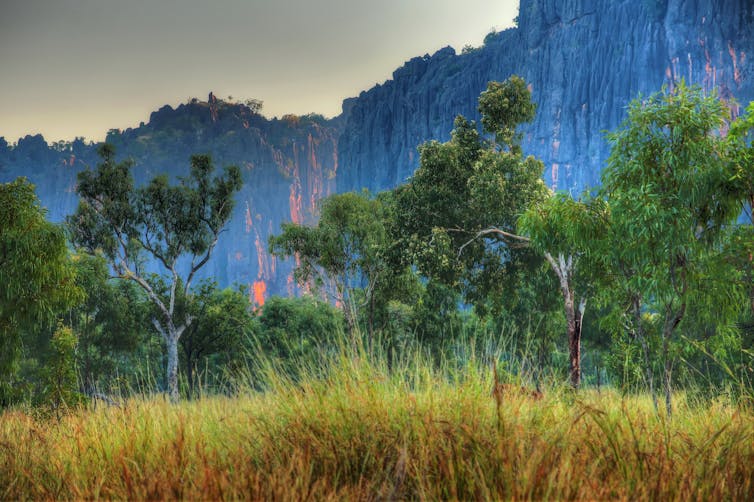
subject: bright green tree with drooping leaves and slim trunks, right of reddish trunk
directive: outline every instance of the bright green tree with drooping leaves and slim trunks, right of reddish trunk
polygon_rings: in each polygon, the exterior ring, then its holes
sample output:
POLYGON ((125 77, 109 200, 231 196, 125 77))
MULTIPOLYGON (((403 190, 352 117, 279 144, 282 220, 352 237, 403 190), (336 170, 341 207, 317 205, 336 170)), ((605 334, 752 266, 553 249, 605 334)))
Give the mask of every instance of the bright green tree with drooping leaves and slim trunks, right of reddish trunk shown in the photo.
MULTIPOLYGON (((727 274, 719 259, 725 228, 741 209, 731 190, 730 149, 720 130, 729 111, 716 95, 683 83, 629 106, 628 118, 610 134, 612 151, 603 172, 610 204, 610 266, 618 295, 645 352, 655 398, 646 330, 656 326, 665 407, 672 413, 671 342, 692 303, 710 304, 717 322, 736 304, 735 286, 718 285, 727 274), (647 323, 647 315, 654 322, 647 323)), ((657 400, 655 398, 655 407, 657 400)))

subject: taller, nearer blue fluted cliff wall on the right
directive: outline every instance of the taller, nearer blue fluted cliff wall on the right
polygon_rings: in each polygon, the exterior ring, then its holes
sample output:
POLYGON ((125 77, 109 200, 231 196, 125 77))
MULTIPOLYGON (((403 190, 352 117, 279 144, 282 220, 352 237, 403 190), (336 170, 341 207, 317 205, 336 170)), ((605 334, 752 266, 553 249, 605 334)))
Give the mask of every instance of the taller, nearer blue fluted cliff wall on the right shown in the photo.
POLYGON ((524 152, 545 162, 550 186, 575 194, 599 182, 603 131, 637 95, 683 79, 743 105, 754 99, 751 0, 521 0, 518 24, 463 54, 414 58, 363 92, 340 138, 337 189, 403 182, 417 167, 416 146, 447 140, 458 114, 478 119, 487 82, 511 74, 538 103, 524 152))

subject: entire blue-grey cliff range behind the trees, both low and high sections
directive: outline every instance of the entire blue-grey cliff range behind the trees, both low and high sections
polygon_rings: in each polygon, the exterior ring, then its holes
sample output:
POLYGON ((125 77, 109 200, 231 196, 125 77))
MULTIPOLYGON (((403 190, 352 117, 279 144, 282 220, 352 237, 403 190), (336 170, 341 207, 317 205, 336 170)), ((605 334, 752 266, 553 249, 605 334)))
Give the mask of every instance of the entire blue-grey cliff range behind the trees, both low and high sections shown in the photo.
MULTIPOLYGON (((458 114, 478 118, 477 98, 490 80, 524 77, 538 103, 523 148, 546 165, 549 185, 578 194, 599 181, 609 153, 603 131, 617 127, 626 105, 681 79, 716 89, 739 105, 754 99, 754 6, 751 0, 521 0, 518 28, 489 35, 484 46, 445 48, 414 58, 392 80, 343 103, 332 120, 268 120, 255 103, 210 95, 147 124, 113 130, 120 158, 135 160, 137 180, 187 172, 192 153, 218 167, 242 168, 228 232, 204 276, 249 286, 257 303, 293 294, 292 261, 267 252, 284 221, 316 217, 317 199, 334 191, 392 188, 418 164, 417 146, 447 140, 458 114), (247 106, 248 105, 248 106, 247 106)), ((98 162, 82 141, 48 145, 27 136, 0 138, 0 181, 27 176, 53 221, 74 211, 76 173, 98 162)))

